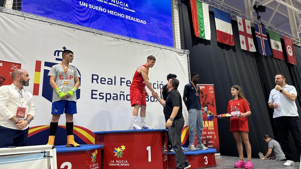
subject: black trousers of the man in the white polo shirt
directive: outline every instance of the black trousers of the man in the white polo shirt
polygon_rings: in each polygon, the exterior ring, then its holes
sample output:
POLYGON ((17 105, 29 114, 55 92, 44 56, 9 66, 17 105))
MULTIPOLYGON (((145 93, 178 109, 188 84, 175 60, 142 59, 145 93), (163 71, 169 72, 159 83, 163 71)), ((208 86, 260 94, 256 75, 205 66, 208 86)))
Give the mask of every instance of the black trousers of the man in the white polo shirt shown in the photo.
POLYGON ((298 155, 301 153, 301 133, 299 130, 299 117, 298 116, 281 116, 274 118, 274 124, 277 129, 282 151, 285 154, 287 160, 294 160, 293 152, 288 140, 288 132, 295 140, 295 146, 298 155))

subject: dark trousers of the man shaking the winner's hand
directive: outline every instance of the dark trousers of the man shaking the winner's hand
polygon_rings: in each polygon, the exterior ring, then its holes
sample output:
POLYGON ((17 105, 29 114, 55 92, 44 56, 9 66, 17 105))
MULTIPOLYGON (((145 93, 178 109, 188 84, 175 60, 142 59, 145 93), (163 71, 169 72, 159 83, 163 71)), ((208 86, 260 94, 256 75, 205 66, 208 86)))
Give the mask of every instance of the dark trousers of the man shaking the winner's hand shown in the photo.
POLYGON ((177 169, 184 169, 185 163, 188 163, 181 144, 181 131, 184 127, 184 122, 184 118, 174 120, 172 125, 168 128, 172 147, 175 150, 175 163, 177 164, 177 169))

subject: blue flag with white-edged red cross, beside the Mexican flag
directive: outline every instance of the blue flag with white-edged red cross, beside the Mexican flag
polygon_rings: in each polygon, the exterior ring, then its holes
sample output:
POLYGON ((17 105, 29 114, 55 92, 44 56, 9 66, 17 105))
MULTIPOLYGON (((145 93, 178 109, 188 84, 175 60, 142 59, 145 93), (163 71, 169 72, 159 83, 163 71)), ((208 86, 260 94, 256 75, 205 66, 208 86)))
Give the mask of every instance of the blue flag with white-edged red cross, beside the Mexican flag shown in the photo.
POLYGON ((272 55, 271 48, 268 46, 268 38, 266 36, 265 27, 261 25, 254 24, 256 40, 258 44, 258 51, 262 55, 270 56, 272 55))

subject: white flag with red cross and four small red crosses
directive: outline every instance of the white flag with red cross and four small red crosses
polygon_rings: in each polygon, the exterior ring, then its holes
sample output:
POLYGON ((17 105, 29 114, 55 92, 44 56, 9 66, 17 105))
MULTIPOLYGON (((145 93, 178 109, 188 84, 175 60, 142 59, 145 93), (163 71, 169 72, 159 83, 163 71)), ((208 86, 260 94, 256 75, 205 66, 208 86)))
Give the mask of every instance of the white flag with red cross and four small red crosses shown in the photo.
POLYGON ((246 51, 256 52, 250 21, 237 17, 238 33, 240 39, 240 48, 246 51))

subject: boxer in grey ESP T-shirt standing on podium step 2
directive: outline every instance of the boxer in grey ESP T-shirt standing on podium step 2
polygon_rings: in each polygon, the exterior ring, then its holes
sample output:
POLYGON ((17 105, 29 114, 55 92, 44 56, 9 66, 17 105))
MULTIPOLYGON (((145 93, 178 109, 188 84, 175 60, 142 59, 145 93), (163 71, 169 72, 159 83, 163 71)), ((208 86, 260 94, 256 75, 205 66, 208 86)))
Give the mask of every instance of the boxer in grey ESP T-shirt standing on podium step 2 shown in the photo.
POLYGON ((69 63, 73 61, 73 52, 64 50, 63 61, 51 67, 48 76, 53 88, 52 94, 52 119, 50 122, 50 133, 48 145, 54 145, 55 133, 61 114, 66 116, 67 147, 80 147, 74 141, 73 136, 73 114, 76 114, 76 90, 79 88, 79 72, 69 63))

